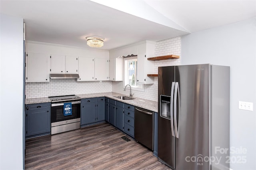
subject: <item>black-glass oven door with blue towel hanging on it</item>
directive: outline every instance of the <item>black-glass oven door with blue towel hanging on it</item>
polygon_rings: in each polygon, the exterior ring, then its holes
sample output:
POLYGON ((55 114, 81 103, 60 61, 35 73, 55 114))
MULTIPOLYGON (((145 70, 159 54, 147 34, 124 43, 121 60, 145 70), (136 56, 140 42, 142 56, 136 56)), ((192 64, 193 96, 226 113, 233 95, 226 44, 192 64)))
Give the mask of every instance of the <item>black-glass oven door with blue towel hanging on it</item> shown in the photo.
POLYGON ((72 102, 72 115, 68 116, 63 115, 64 103, 52 103, 51 123, 80 118, 80 103, 81 101, 72 102))

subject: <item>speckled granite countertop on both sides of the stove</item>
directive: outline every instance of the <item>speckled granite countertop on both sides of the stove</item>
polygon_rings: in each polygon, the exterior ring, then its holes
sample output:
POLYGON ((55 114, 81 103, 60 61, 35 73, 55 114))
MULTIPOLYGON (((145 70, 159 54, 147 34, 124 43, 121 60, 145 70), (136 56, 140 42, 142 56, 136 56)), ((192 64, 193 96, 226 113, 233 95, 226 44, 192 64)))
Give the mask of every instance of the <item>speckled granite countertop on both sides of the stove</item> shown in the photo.
MULTIPOLYGON (((122 100, 114 97, 114 96, 120 96, 120 95, 123 95, 123 94, 107 92, 107 93, 78 94, 77 96, 80 97, 81 99, 93 98, 93 97, 108 97, 110 99, 121 101, 123 103, 134 105, 136 107, 141 107, 144 109, 148 109, 150 111, 158 112, 158 103, 156 101, 150 101, 150 100, 141 99, 138 97, 134 97, 135 99, 132 99, 132 100, 122 100)), ((50 99, 48 99, 48 97, 25 99, 25 104, 48 103, 48 102, 51 102, 50 99)))

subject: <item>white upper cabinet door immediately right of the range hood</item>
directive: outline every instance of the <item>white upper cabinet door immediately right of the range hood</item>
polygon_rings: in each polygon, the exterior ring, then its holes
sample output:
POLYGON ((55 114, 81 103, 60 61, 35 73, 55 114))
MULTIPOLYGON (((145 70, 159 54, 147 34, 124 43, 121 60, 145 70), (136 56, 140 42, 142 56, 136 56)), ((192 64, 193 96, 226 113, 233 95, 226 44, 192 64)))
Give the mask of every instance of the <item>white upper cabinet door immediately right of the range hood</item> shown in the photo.
POLYGON ((79 57, 78 63, 79 79, 77 81, 94 80, 94 59, 88 57, 79 57))

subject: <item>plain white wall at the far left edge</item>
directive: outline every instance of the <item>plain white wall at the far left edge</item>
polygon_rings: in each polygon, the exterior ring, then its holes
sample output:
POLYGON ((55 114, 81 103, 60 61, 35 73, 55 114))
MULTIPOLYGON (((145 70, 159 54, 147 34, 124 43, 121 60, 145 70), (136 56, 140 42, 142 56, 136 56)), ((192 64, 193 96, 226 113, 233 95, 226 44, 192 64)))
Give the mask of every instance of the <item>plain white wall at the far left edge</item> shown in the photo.
POLYGON ((23 19, 0 19, 0 169, 23 169, 23 19))

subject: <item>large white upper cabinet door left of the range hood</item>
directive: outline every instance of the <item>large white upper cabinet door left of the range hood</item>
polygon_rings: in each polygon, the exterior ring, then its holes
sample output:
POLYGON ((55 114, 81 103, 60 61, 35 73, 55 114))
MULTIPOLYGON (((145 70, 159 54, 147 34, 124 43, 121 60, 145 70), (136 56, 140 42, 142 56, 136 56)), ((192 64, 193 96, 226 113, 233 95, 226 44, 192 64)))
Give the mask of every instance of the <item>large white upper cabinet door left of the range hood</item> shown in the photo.
POLYGON ((50 81, 50 55, 27 53, 26 55, 26 82, 50 81))

